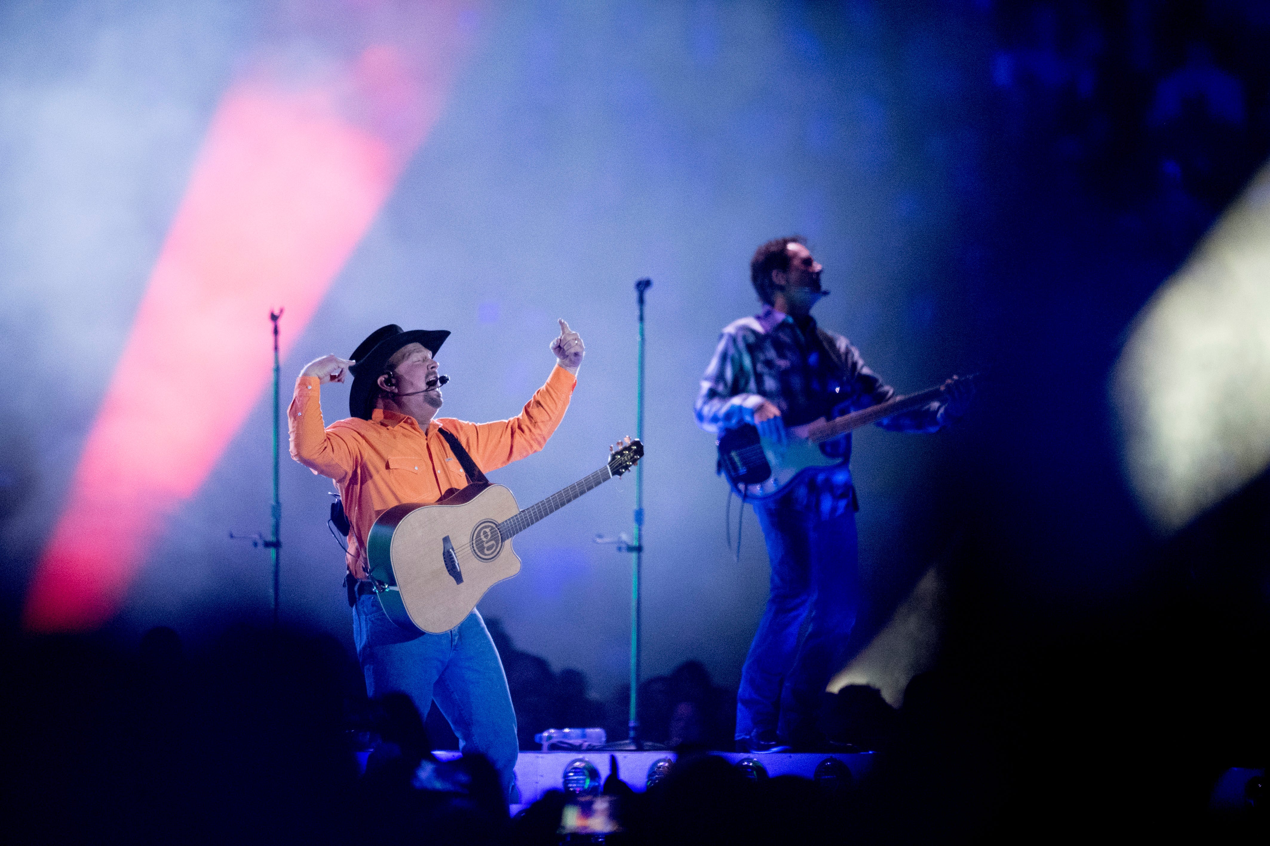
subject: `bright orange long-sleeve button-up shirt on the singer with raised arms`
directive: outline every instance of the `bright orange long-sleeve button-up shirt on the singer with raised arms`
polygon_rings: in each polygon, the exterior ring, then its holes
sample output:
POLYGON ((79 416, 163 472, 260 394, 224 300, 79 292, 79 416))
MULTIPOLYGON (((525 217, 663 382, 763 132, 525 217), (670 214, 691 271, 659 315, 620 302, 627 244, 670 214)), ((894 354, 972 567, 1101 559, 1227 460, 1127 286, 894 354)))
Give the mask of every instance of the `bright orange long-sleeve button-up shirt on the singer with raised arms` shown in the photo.
POLYGON ((556 365, 546 384, 511 420, 470 424, 441 417, 419 429, 414 417, 376 408, 370 420, 348 417, 323 425, 321 381, 296 379, 287 408, 291 457, 314 473, 334 479, 352 524, 348 569, 366 578, 366 539, 381 514, 403 502, 436 502, 450 488, 467 486, 467 476, 450 444, 444 426, 483 473, 536 453, 547 443, 569 408, 577 378, 556 365))

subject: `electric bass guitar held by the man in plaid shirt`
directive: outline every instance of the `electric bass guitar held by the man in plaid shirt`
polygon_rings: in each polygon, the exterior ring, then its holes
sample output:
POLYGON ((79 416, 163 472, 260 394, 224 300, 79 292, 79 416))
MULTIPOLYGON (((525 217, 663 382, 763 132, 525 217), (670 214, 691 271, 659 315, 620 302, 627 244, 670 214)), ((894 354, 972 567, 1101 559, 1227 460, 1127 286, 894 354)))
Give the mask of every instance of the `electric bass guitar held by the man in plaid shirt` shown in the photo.
MULTIPOLYGON (((972 377, 961 377, 963 379, 972 377)), ((749 424, 729 429, 716 441, 719 467, 733 488, 747 500, 766 500, 784 491, 794 477, 809 467, 829 467, 842 462, 820 452, 820 444, 878 422, 902 411, 925 406, 944 397, 945 387, 931 388, 907 397, 853 411, 833 420, 813 420, 785 430, 785 443, 758 434, 749 424)))

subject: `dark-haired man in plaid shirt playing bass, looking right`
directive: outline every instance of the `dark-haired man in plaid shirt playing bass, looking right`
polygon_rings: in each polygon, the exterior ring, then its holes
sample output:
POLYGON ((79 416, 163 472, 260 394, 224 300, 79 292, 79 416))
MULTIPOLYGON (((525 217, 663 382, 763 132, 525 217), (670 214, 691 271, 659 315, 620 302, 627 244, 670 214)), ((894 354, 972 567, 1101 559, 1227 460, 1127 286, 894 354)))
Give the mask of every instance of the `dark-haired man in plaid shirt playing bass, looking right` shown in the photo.
MULTIPOLYGON (((823 459, 804 462, 791 478, 777 473, 770 479, 763 453, 776 458, 767 446, 785 444, 787 427, 810 436, 824 430, 823 421, 885 403, 894 391, 847 339, 817 326, 812 307, 828 292, 820 288, 823 268, 801 237, 763 244, 749 269, 763 308, 723 330, 696 402, 697 424, 720 435, 721 469, 737 487, 744 492, 743 482, 767 479, 767 487, 754 486, 762 497, 753 505, 771 561, 771 592, 742 670, 737 747, 820 751, 824 689, 845 663, 860 600, 851 436, 819 443, 823 459), (758 430, 754 441, 765 445, 748 450, 763 468, 753 479, 743 462, 728 463, 729 457, 744 459, 747 448, 724 444, 730 433, 751 426, 758 430)), ((965 379, 949 379, 930 402, 897 408, 878 425, 937 431, 963 413, 969 397, 965 379)))

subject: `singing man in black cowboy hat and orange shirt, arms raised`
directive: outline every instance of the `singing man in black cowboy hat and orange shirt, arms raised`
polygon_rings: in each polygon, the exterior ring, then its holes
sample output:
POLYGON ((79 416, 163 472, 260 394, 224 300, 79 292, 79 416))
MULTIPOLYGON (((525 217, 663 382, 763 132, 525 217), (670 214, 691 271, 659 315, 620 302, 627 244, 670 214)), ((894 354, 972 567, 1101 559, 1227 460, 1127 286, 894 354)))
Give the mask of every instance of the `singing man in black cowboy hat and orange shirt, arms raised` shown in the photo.
POLYGON ((470 481, 470 457, 481 473, 536 453, 560 425, 577 386, 585 348, 560 321, 551 341, 556 365, 521 413, 511 420, 471 424, 436 419, 441 410, 437 353, 444 330, 401 331, 384 326, 353 351, 352 359, 324 355, 296 379, 287 410, 291 457, 334 479, 352 529, 348 534, 348 585, 353 639, 371 696, 404 691, 427 715, 436 700, 458 736, 460 748, 485 755, 514 799, 516 712, 507 676, 480 613, 472 610, 444 634, 405 630, 380 608, 367 577, 366 540, 384 511, 404 502, 436 502, 470 481), (353 374, 349 417, 323 425, 323 383, 353 374))

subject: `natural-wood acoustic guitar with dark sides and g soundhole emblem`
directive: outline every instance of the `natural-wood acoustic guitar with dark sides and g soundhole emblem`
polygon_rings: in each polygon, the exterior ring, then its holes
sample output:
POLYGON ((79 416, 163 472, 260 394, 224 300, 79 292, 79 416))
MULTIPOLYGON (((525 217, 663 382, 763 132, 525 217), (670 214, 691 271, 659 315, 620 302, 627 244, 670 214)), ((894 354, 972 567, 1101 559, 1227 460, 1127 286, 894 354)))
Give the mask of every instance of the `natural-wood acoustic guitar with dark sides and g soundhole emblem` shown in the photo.
POLYGON ((491 586, 521 572, 512 538, 639 463, 644 444, 617 444, 608 463, 521 511, 502 485, 478 483, 432 505, 406 502, 380 515, 367 539, 380 606, 404 629, 439 634, 471 614, 491 586))

